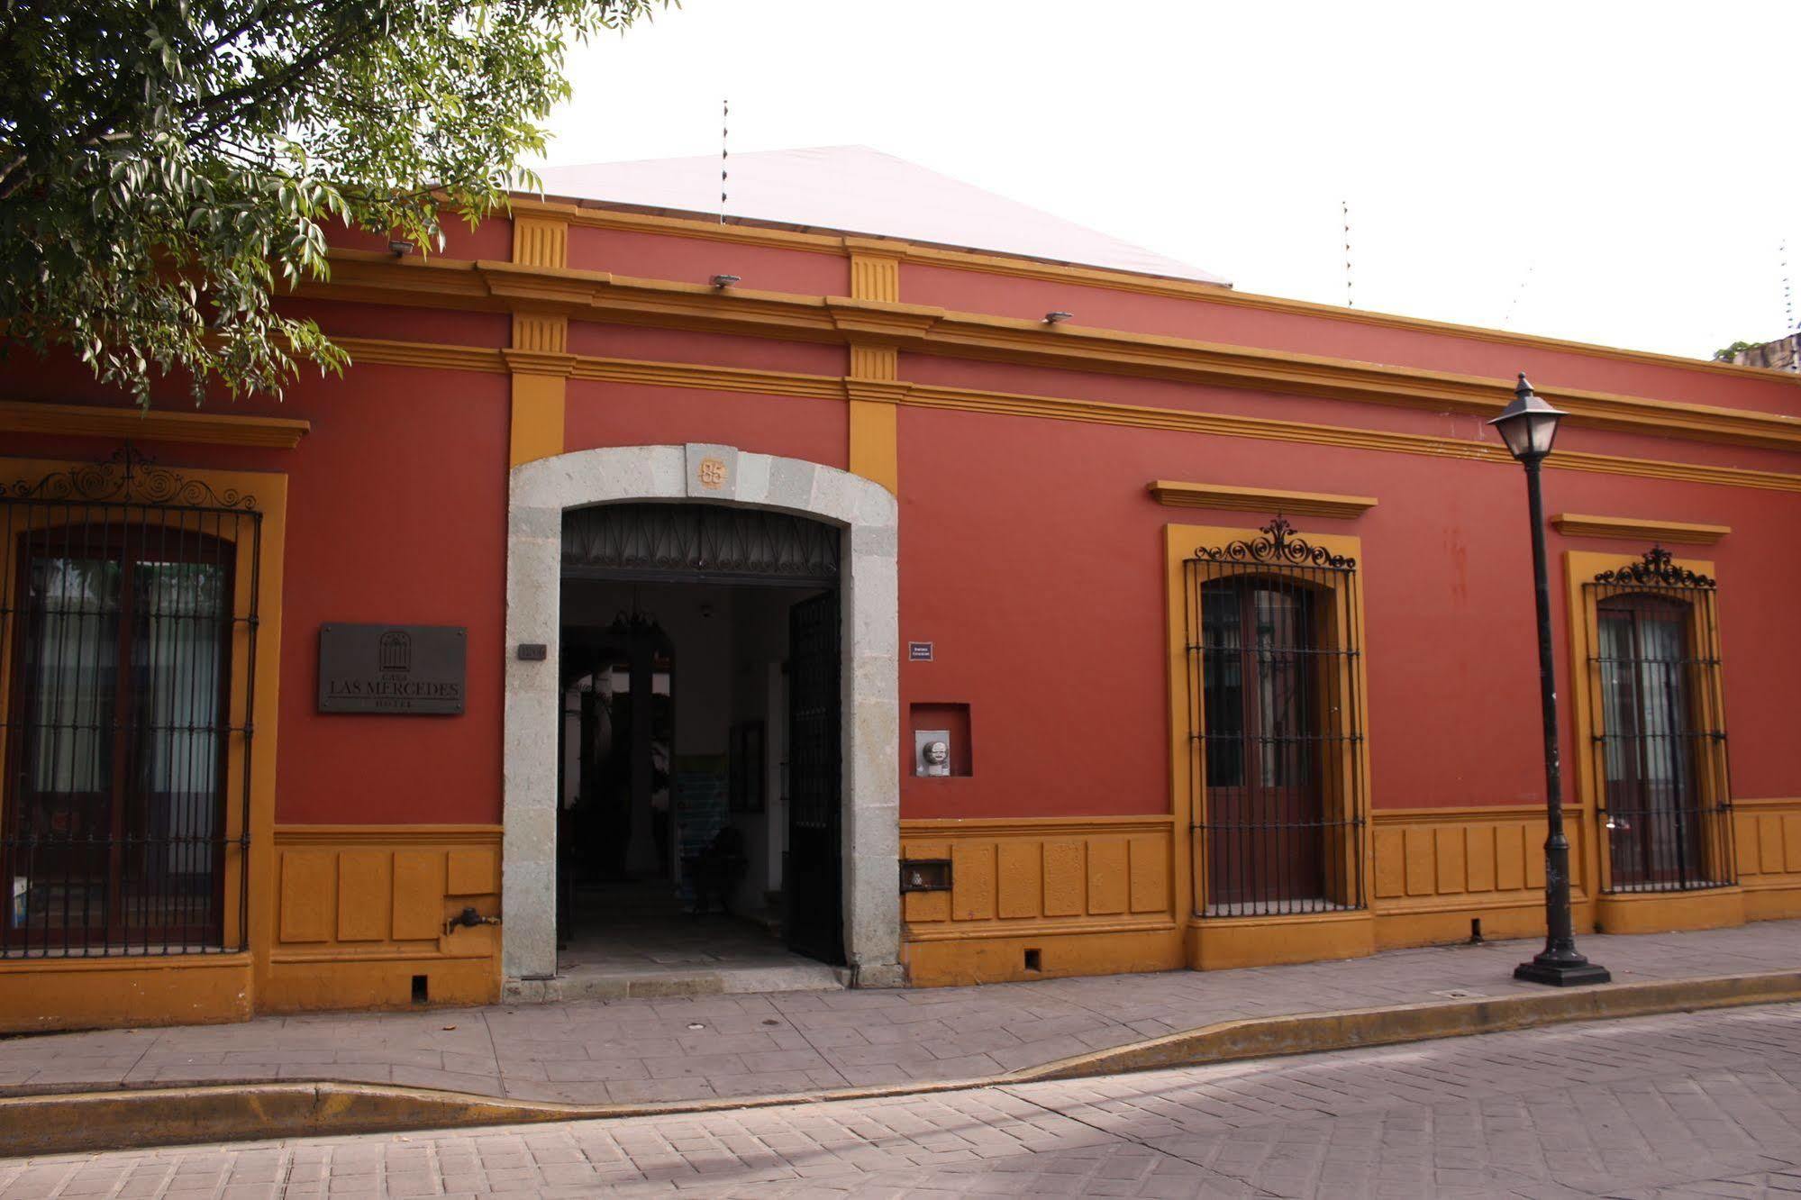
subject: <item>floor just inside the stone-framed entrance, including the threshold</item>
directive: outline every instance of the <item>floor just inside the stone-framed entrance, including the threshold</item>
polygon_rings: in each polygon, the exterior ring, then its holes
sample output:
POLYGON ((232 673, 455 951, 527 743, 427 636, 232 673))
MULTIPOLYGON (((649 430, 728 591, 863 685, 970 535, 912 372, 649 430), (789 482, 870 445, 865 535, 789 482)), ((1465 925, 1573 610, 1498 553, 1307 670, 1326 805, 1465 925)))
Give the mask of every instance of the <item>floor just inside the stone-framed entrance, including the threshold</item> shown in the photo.
POLYGON ((827 991, 846 975, 782 944, 765 917, 693 914, 668 883, 584 886, 557 951, 555 998, 827 991))

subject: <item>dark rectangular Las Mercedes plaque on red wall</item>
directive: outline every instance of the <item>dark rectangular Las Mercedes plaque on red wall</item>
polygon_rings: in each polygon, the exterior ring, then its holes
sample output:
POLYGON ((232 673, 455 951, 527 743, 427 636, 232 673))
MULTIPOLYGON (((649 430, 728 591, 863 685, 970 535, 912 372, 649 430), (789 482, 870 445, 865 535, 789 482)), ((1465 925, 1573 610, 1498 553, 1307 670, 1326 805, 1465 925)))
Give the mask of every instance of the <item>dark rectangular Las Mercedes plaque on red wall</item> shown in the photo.
POLYGON ((461 625, 321 625, 319 712, 461 714, 461 625))

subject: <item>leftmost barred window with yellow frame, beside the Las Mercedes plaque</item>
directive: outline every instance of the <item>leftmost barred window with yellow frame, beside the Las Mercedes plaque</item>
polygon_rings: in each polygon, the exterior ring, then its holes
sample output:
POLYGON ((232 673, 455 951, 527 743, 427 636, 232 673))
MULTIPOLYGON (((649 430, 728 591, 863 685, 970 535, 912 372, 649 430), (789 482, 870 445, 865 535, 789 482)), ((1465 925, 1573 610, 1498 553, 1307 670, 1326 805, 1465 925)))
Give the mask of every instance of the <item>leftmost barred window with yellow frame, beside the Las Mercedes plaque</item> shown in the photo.
POLYGON ((130 447, 0 485, 0 959, 249 944, 261 519, 130 447))

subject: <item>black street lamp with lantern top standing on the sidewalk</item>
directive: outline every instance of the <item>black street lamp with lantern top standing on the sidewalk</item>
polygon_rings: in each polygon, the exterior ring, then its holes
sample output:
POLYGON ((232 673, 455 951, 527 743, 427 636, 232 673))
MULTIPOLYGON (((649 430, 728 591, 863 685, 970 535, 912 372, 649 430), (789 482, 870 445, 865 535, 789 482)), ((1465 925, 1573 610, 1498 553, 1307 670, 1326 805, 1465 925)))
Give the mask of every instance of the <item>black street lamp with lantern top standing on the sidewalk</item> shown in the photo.
POLYGON ((1563 413, 1533 395, 1520 375, 1513 404, 1489 422, 1500 431, 1507 450, 1525 467, 1525 503, 1533 514, 1533 584, 1538 589, 1538 692, 1545 710, 1545 948, 1513 969, 1513 978, 1529 984, 1605 984, 1612 975, 1576 953, 1576 928, 1570 921, 1570 840, 1563 836, 1563 771, 1558 766, 1558 681, 1551 659, 1551 582, 1545 571, 1545 503, 1538 490, 1538 468, 1551 454, 1563 413))

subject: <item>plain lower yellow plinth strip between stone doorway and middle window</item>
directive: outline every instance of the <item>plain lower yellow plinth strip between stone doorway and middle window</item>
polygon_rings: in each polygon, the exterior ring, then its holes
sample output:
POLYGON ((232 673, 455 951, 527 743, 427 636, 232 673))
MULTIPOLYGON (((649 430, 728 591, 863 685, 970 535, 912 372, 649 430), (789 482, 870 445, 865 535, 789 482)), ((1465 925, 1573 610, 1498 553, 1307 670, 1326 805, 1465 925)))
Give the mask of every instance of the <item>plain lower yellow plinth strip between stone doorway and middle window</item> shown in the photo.
POLYGON ((935 942, 904 942, 900 962, 915 987, 1007 984, 1061 975, 1133 975, 1180 969, 1174 928, 1138 933, 1027 933, 935 942), (1037 969, 1027 969, 1027 953, 1037 969))

